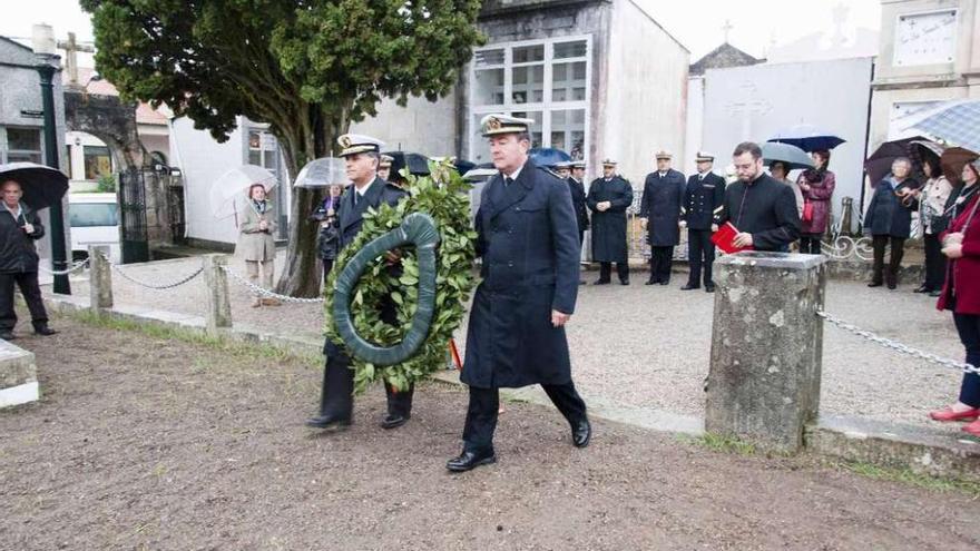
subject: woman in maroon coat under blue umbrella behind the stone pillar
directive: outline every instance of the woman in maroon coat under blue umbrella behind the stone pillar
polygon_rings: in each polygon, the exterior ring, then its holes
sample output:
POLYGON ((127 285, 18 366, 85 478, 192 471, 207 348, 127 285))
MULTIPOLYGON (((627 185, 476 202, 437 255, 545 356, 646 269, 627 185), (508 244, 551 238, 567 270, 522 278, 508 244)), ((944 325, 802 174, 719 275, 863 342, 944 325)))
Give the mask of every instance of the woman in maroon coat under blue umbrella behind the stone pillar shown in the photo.
POLYGON ((821 254, 820 244, 826 233, 831 215, 831 197, 834 195, 836 178, 827 170, 831 152, 819 150, 810 154, 814 168, 805 170, 796 180, 803 193, 803 214, 800 217, 800 253, 821 254))

